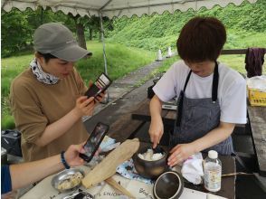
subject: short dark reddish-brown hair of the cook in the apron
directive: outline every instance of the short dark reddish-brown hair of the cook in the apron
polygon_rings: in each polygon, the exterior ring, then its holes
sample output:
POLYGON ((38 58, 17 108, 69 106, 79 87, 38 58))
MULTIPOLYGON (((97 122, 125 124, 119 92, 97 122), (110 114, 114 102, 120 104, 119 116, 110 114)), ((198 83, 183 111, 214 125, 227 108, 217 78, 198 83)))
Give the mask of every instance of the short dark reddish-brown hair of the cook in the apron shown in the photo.
POLYGON ((182 28, 176 47, 187 62, 216 61, 225 42, 226 31, 221 21, 197 16, 182 28))

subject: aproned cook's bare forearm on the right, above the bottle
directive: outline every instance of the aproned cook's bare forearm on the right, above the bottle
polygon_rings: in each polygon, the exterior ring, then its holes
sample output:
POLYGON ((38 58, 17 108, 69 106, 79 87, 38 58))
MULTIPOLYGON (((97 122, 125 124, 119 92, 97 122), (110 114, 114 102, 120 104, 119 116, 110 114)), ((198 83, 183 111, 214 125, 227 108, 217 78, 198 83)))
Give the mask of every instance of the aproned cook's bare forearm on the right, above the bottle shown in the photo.
POLYGON ((195 146, 195 152, 200 152, 208 147, 219 144, 233 132, 235 124, 221 122, 217 128, 211 130, 204 137, 196 139, 192 144, 195 146))

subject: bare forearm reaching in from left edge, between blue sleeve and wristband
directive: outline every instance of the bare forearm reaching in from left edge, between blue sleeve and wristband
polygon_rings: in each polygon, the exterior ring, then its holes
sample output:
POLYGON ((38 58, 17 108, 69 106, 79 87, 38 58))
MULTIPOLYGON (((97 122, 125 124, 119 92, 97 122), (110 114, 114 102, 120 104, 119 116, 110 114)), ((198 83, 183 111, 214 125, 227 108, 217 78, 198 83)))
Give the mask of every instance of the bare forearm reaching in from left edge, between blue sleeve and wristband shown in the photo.
POLYGON ((10 166, 12 189, 35 183, 48 175, 62 170, 61 156, 51 156, 43 160, 10 166))

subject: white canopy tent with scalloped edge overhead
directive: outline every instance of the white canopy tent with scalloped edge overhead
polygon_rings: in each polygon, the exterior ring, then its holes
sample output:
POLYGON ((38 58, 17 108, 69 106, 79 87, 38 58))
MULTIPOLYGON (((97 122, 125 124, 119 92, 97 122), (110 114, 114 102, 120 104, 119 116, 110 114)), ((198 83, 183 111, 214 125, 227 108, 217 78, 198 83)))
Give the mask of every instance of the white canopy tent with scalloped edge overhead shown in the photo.
MULTIPOLYGON (((195 11, 201 7, 211 9, 214 5, 222 7, 233 3, 241 5, 244 0, 2 0, 1 6, 6 12, 13 7, 24 11, 27 7, 33 10, 38 6, 44 9, 49 6, 53 12, 62 11, 64 14, 100 15, 113 18, 114 16, 128 16, 134 14, 162 14, 165 11, 174 13, 176 10, 182 12, 192 8, 195 11)), ((247 0, 255 3, 257 0, 247 0)))

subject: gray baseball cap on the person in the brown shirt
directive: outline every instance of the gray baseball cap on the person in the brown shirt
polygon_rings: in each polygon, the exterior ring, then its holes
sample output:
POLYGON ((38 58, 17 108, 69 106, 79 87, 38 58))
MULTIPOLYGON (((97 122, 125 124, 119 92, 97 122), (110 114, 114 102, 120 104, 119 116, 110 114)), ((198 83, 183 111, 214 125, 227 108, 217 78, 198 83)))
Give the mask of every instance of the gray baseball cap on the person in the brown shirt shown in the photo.
POLYGON ((33 34, 33 48, 37 52, 51 53, 68 62, 76 62, 82 57, 92 54, 81 48, 71 31, 59 23, 39 26, 33 34))

